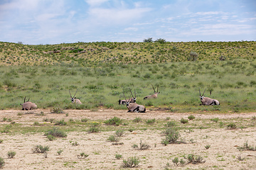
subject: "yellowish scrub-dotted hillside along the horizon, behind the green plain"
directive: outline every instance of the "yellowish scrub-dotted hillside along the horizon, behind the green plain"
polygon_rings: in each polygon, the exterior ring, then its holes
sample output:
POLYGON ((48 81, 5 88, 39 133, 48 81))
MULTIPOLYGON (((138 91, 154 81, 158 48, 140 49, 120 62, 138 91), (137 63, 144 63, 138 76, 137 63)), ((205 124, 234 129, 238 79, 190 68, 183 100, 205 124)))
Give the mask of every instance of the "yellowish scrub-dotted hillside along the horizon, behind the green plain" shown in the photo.
POLYGON ((23 45, 0 42, 1 65, 78 64, 101 62, 144 64, 187 61, 196 52, 198 61, 255 59, 256 42, 77 42, 58 45, 23 45))

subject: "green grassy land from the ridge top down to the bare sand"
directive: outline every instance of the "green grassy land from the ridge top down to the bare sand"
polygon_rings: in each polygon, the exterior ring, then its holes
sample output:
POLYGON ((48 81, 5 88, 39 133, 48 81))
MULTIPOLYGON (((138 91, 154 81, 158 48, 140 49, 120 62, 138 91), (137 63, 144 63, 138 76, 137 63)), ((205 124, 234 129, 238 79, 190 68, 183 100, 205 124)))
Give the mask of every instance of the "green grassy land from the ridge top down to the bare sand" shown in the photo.
POLYGON ((255 42, 0 42, 0 109, 127 109, 129 88, 146 109, 171 112, 255 112, 255 42), (194 57, 194 58, 193 58, 194 57), (221 60, 220 60, 221 59, 221 60), (224 60, 225 59, 225 60, 224 60), (159 85, 159 97, 143 100, 159 85), (78 89, 82 105, 70 102, 78 89), (198 89, 220 106, 199 106, 198 89), (210 91, 212 91, 210 95, 210 91))

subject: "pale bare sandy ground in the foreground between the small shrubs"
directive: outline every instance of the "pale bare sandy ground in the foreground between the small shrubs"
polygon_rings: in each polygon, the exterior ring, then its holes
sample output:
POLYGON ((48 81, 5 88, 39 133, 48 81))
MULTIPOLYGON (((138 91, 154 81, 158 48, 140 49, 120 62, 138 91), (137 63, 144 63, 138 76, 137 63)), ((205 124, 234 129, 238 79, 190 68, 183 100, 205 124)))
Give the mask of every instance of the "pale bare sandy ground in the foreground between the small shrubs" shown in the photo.
MULTIPOLYGON (((0 111, 0 120, 11 118, 16 123, 26 126, 33 126, 38 121, 43 123, 43 118, 65 119, 70 118, 80 120, 89 118, 90 120, 107 120, 114 116, 125 120, 133 120, 140 117, 142 119, 156 118, 164 120, 181 120, 188 113, 167 113, 166 111, 147 111, 146 113, 127 113, 127 111, 99 110, 99 111, 80 111, 68 110, 68 117, 65 114, 50 113, 49 110, 35 111, 0 111), (38 116, 36 114, 45 113, 38 116), (28 113, 18 115, 18 113, 28 113), (32 114, 33 113, 33 114, 32 114)), ((256 113, 228 113, 228 114, 193 114, 196 119, 208 120, 209 118, 233 119, 240 118, 239 121, 252 121, 252 116, 256 113)), ((3 125, 9 125, 9 122, 0 122, 3 125)), ((255 124, 254 124, 255 125, 255 124)), ((121 126, 122 127, 122 126, 121 126)), ((191 131, 181 131, 181 137, 186 140, 186 144, 161 145, 164 138, 161 130, 134 130, 125 131, 119 142, 123 145, 112 145, 107 141, 110 135, 115 131, 89 133, 86 131, 67 132, 68 137, 58 138, 49 141, 42 132, 26 134, 8 134, 0 132, 0 157, 6 162, 3 169, 124 169, 122 167, 123 159, 137 156, 140 160, 139 167, 133 169, 256 169, 256 151, 239 151, 238 146, 242 146, 245 141, 249 145, 256 147, 256 127, 237 128, 228 130, 226 128, 207 128, 193 129, 191 131), (189 142, 193 139, 194 142, 189 142), (149 149, 140 150, 132 148, 132 145, 139 145, 140 140, 150 145, 149 149), (72 142, 77 142, 73 146, 72 142), (35 154, 31 151, 33 146, 50 146, 50 151, 45 157, 44 154, 35 154), (205 146, 210 145, 209 149, 205 146), (63 153, 58 155, 58 149, 63 149, 63 153), (8 159, 7 152, 15 151, 16 156, 8 159), (86 159, 78 159, 78 154, 85 152, 89 154, 86 159), (122 159, 116 159, 115 154, 122 154, 122 159), (185 166, 175 166, 172 162, 174 157, 182 158, 183 155, 196 154, 203 157, 206 162, 203 164, 186 164, 185 166), (242 161, 238 157, 245 158, 242 161)), ((127 169, 127 168, 125 168, 127 169)))

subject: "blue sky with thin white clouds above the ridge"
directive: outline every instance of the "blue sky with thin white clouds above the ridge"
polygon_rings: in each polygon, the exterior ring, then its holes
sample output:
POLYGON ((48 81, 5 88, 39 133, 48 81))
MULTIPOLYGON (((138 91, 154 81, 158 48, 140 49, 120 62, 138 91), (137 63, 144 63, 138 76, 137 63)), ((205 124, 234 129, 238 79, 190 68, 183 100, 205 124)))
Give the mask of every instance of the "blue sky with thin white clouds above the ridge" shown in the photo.
POLYGON ((0 41, 256 40, 255 0, 1 0, 0 41))

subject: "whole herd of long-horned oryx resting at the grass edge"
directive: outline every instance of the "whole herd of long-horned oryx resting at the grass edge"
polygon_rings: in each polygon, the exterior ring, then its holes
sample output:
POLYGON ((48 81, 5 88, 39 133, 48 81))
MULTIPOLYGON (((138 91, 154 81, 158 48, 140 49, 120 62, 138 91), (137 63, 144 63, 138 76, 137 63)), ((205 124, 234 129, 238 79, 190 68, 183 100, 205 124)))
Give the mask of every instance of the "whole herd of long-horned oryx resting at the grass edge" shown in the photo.
MULTIPOLYGON (((149 96, 145 96, 143 99, 149 99, 149 98, 157 98, 157 95, 160 93, 159 92, 159 86, 157 86, 157 89, 155 90, 154 89, 154 86, 151 85, 153 90, 154 90, 154 94, 152 95, 149 95, 149 96)), ((128 108, 128 112, 140 112, 140 113, 144 113, 146 112, 146 107, 143 106, 143 105, 139 105, 136 103, 136 91, 134 89, 134 96, 132 94, 132 90, 129 89, 130 93, 131 93, 131 96, 130 98, 127 98, 125 97, 124 95, 124 100, 121 100, 119 99, 118 103, 119 105, 126 105, 127 108, 128 108)), ((77 94, 78 92, 78 89, 77 91, 75 91, 75 94, 77 94)), ((203 91, 203 95, 205 94, 206 92, 206 89, 203 91)), ((70 94, 70 91, 69 91, 69 94, 70 94)), ((123 92, 124 94, 124 92, 123 92)), ((201 92, 200 92, 200 89, 199 89, 199 95, 200 95, 200 99, 201 99, 201 104, 200 105, 206 105, 206 106, 209 106, 209 105, 220 105, 220 102, 216 99, 213 99, 213 98, 208 98, 208 97, 205 97, 203 95, 201 95, 201 92)), ((28 101, 26 101, 26 96, 24 98, 24 102, 21 103, 21 106, 22 106, 22 110, 32 110, 32 109, 36 109, 37 106, 36 106, 36 103, 32 103, 31 101, 29 101, 30 98, 28 98, 28 101)), ((75 103, 75 104, 82 104, 82 102, 78 99, 78 98, 75 98, 75 95, 72 97, 71 94, 70 94, 70 99, 71 99, 71 102, 72 103, 75 103)))

